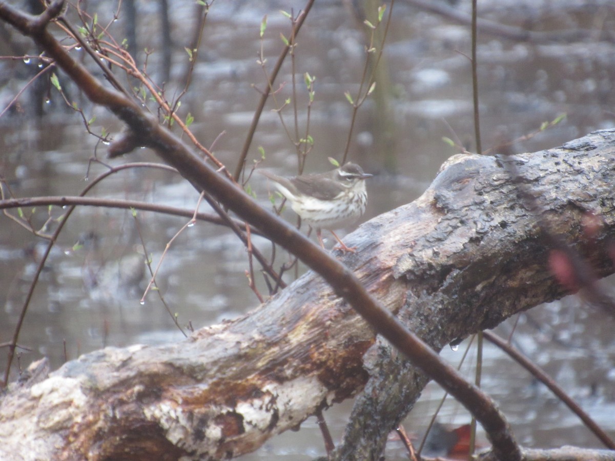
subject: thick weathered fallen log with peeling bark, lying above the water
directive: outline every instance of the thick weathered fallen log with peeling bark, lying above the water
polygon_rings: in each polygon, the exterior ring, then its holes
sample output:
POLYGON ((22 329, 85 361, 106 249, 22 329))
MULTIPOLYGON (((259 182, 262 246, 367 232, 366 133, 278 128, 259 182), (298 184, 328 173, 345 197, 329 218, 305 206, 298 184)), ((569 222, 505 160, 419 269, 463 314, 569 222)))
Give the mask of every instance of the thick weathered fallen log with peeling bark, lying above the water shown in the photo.
MULTIPOLYGON (((517 178, 499 157, 452 157, 419 199, 349 235, 358 251, 343 262, 439 350, 565 294, 547 268, 545 227, 600 277, 613 272, 614 156, 615 130, 602 130, 510 157, 517 178), (518 184, 540 216, 518 199, 518 184), (592 239, 581 224, 588 212, 603 222, 592 239)), ((38 364, 2 396, 0 459, 237 456, 355 395, 370 374, 339 452, 351 459, 349 443, 371 444, 373 454, 427 382, 386 345, 370 350, 375 344, 371 328, 308 272, 244 317, 177 344, 108 347, 51 373, 38 364)))

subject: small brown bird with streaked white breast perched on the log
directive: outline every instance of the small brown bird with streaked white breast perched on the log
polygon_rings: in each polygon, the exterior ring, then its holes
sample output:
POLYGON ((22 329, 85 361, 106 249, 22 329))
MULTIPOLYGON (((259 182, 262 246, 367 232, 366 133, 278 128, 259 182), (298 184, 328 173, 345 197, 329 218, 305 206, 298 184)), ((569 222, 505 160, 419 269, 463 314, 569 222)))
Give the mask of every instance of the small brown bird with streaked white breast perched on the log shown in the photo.
POLYGON ((274 181, 277 190, 290 202, 293 211, 302 221, 316 229, 316 236, 322 248, 325 248, 325 245, 322 242, 321 229, 327 229, 339 242, 341 250, 355 253, 355 248, 344 245, 333 229, 354 223, 365 213, 365 179, 372 175, 364 173, 359 165, 352 162, 325 173, 288 178, 274 175, 267 170, 258 171, 274 181))

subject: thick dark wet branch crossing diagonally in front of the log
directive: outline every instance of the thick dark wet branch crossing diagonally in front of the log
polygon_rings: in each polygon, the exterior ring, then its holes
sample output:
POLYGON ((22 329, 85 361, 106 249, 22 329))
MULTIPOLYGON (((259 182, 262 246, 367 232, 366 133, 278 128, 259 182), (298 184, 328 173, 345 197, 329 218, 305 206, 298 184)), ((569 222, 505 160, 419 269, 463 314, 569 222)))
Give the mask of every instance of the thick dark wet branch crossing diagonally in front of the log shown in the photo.
MULTIPOLYGON (((359 279, 341 262, 331 258, 319 246, 289 224, 258 206, 236 184, 221 175, 200 159, 173 133, 161 126, 157 119, 146 114, 135 101, 126 95, 105 88, 81 63, 75 61, 63 46, 47 31, 47 24, 60 14, 62 0, 50 4, 39 17, 23 14, 6 2, 0 2, 0 19, 34 39, 47 55, 54 58, 73 81, 79 85, 93 103, 111 110, 127 124, 130 138, 124 140, 122 149, 146 146, 180 171, 195 187, 207 191, 240 218, 257 227, 268 238, 295 254, 308 267, 315 270, 377 331, 402 351, 413 364, 434 379, 444 390, 458 399, 472 412, 493 444, 493 453, 500 460, 521 459, 520 447, 515 442, 509 425, 493 401, 482 391, 464 380, 437 353, 411 333, 394 315, 372 297, 359 279)), ((111 151, 113 151, 113 144, 111 151)), ((17 343, 15 339, 14 343, 17 343)))

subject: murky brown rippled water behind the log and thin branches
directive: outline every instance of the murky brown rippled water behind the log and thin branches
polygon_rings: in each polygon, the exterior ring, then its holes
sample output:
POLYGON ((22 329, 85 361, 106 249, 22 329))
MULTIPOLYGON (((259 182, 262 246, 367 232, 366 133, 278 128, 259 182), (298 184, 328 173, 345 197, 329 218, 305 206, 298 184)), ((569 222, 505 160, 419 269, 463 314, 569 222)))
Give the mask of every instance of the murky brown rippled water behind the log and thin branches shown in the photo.
MULTIPOLYGON (((508 9, 503 3, 487 2, 484 8, 491 20, 506 20, 514 25, 529 22, 544 29, 588 28, 600 18, 608 30, 613 25, 612 7, 594 3, 598 10, 576 6, 570 6, 568 11, 531 6, 520 10, 517 2, 508 9)), ((440 164, 456 153, 443 143, 443 136, 470 150, 474 145, 467 27, 451 25, 442 17, 405 5, 395 5, 395 8, 399 14, 394 16, 387 47, 392 81, 389 123, 394 127, 394 137, 383 140, 381 133, 375 132, 379 114, 375 114, 375 105, 368 100, 359 111, 351 144, 351 158, 376 175, 367 184, 370 199, 365 219, 421 194, 440 164), (395 159, 394 171, 391 163, 384 167, 384 154, 395 159)), ((461 2, 458 8, 467 6, 461 2)), ((177 24, 189 23, 190 12, 191 9, 179 6, 174 9, 177 24)), ((195 67, 191 90, 182 100, 182 114, 194 115, 194 132, 203 144, 210 145, 224 133, 216 141, 215 153, 232 168, 259 98, 251 85, 261 89, 264 85, 263 72, 256 64, 260 47, 258 27, 264 14, 269 15, 269 20, 263 47, 272 63, 281 48, 279 34, 288 31, 287 22, 277 9, 242 6, 240 2, 232 3, 232 7, 223 4, 212 7, 205 28, 204 52, 195 67)), ((152 32, 143 30, 143 36, 152 32)), ((315 101, 310 114, 314 150, 308 157, 308 171, 329 168, 327 157, 339 159, 344 151, 351 117, 344 92, 355 92, 359 85, 364 39, 348 10, 333 2, 316 6, 309 25, 301 31, 295 61, 298 80, 303 84, 304 72, 316 77, 315 101)), ((549 148, 614 124, 615 53, 610 43, 531 44, 482 34, 478 59, 485 148, 536 132, 542 122, 553 120, 563 112, 568 114, 564 122, 515 143, 510 150, 549 148)), ((156 60, 154 53, 151 63, 156 60)), ((20 66, 28 65, 34 63, 20 61, 20 66)), ((290 72, 289 64, 278 79, 279 84, 284 82, 277 93, 278 105, 292 95, 290 72)), ((169 92, 173 89, 171 85, 167 88, 169 92)), ((303 104, 298 120, 304 129, 306 94, 302 89, 298 91, 303 104)), ((10 94, 14 93, 11 90, 10 94)), ((275 104, 270 101, 248 162, 260 160, 258 146, 263 146, 266 152, 263 165, 291 174, 296 168, 295 149, 276 112, 269 110, 274 108, 275 104)), ((293 114, 287 109, 282 114, 292 126, 293 114)), ((106 171, 103 165, 89 165, 94 154, 104 159, 103 146, 97 145, 94 138, 84 138, 81 120, 63 109, 61 101, 52 98, 45 110, 49 114, 40 122, 25 120, 19 114, 0 120, 0 173, 17 196, 79 194, 88 183, 86 176, 92 181, 106 171)), ((112 133, 121 128, 105 111, 88 110, 89 116, 98 117, 93 124, 98 132, 101 127, 112 133)), ((128 160, 155 159, 144 149, 127 159, 111 160, 109 164, 119 165, 128 160)), ((257 199, 268 204, 262 179, 255 177, 250 185, 257 199)), ((195 192, 177 175, 144 169, 117 173, 97 186, 91 195, 183 208, 193 208, 197 203, 195 192)), ((206 205, 200 209, 210 211, 206 205)), ((31 215, 35 227, 43 226, 51 217, 49 229, 57 226, 54 219, 63 213, 58 209, 52 210, 51 216, 42 209, 23 211, 31 215)), ((292 213, 284 216, 295 219, 292 213)), ((157 275, 158 290, 150 291, 145 303, 140 304, 149 278, 149 269, 143 264, 145 255, 154 269, 166 243, 186 219, 146 212, 133 216, 130 211, 93 207, 77 208, 69 219, 70 225, 60 235, 30 303, 20 336, 20 345, 28 348, 21 352, 22 366, 41 355, 50 357, 55 368, 66 358, 76 358, 80 353, 105 345, 175 341, 182 334, 173 325, 173 318, 177 317, 184 329, 186 325, 199 328, 236 317, 257 303, 247 288, 245 250, 220 227, 197 223, 185 229, 165 254, 157 275), (141 242, 145 242, 145 250, 141 242), (169 311, 159 294, 164 296, 169 311)), ((0 221, 0 305, 3 306, 0 342, 7 341, 17 323, 44 248, 41 243, 42 240, 23 232, 12 221, 6 218, 0 221)), ((258 245, 264 252, 270 251, 266 242, 260 240, 258 245)), ((278 255, 278 258, 285 256, 278 255)), ((263 280, 257 283, 265 293, 263 280)), ((523 313, 498 330, 506 336, 518 320, 515 345, 554 376, 613 433, 615 350, 612 321, 604 317, 602 312, 566 299, 523 313)), ((455 362, 461 357, 464 345, 459 352, 446 349, 443 354, 455 362)), ((0 368, 5 363, 2 355, 0 368)), ((563 405, 489 345, 484 368, 486 390, 499 402, 523 444, 600 446, 587 431, 579 429, 578 420, 563 405)), ((407 422, 410 433, 420 435, 425 430, 426 419, 441 395, 436 386, 426 389, 407 422)), ((341 436, 350 404, 344 403, 325 415, 334 437, 341 436)), ((464 424, 467 420, 466 413, 455 403, 445 405, 440 416, 440 421, 446 424, 464 424)), ((272 439, 244 459, 275 455, 294 460, 322 453, 317 424, 308 420, 299 433, 272 439)), ((396 441, 391 441, 387 453, 390 459, 403 456, 402 447, 396 441)))

